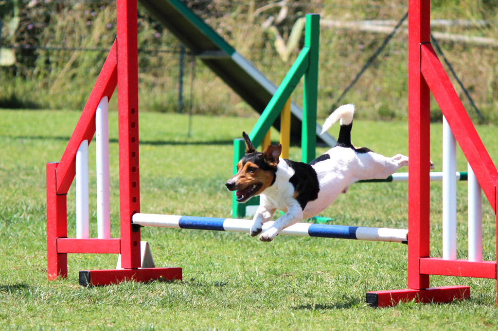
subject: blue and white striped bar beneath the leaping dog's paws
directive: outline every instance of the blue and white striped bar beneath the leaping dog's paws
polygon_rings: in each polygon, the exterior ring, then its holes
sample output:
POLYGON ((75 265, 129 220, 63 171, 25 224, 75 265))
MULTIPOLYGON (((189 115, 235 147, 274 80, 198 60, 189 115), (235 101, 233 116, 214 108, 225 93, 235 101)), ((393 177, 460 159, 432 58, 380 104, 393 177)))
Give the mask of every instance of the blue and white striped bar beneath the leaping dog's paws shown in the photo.
MULTIPOLYGON (((249 233, 253 222, 252 220, 241 220, 233 218, 212 218, 138 213, 133 215, 132 223, 144 227, 249 233)), ((273 222, 265 223, 263 225, 263 231, 271 227, 272 224, 273 222)), ((408 244, 408 230, 403 229, 296 223, 286 229, 283 229, 280 234, 288 236, 356 239, 408 244)))

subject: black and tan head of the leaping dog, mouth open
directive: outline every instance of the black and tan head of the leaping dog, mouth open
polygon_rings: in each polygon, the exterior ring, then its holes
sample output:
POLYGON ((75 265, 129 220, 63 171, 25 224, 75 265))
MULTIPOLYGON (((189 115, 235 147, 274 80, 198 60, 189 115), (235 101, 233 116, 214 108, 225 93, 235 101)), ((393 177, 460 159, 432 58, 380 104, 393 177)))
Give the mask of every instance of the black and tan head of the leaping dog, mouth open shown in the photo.
POLYGON ((261 194, 275 182, 278 157, 282 153, 282 145, 270 145, 263 153, 257 152, 243 132, 246 142, 246 155, 237 164, 237 173, 225 185, 230 191, 237 191, 238 202, 246 202, 250 197, 261 194))

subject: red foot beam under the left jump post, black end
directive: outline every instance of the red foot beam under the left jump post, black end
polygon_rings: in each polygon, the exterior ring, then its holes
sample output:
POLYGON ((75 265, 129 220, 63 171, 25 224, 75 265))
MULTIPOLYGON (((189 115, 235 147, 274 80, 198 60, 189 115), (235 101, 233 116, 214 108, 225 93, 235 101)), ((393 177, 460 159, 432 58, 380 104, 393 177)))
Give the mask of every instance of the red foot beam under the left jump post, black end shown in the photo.
POLYGON ((130 280, 144 283, 154 280, 182 280, 182 268, 82 270, 79 279, 82 286, 103 286, 130 280))

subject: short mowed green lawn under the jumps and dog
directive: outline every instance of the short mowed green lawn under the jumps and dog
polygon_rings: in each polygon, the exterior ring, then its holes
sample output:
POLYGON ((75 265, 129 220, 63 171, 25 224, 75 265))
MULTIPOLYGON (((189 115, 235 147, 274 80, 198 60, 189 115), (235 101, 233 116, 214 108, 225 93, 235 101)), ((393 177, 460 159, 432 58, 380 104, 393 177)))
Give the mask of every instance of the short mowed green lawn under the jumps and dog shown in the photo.
MULTIPOLYGON (((45 164, 60 160, 79 112, 0 111, 0 329, 8 330, 479 330, 497 328, 496 281, 431 277, 469 285, 471 299, 372 309, 365 292, 406 287, 407 246, 248 234, 142 229, 157 266, 180 266, 183 281, 83 288, 78 271, 114 268, 114 254, 70 254, 69 277, 47 281, 45 164)), ((117 113, 110 114, 112 235, 119 236, 117 113)), ((224 187, 234 138, 256 118, 140 114, 141 211, 230 217, 224 187)), ((338 126, 331 130, 337 135, 338 126)), ((385 155, 407 153, 405 122, 355 121, 353 142, 385 155)), ((431 159, 441 170, 441 125, 431 159)), ((498 160, 497 128, 478 132, 498 160)), ((273 137, 277 137, 275 133, 273 137)), ((95 144, 90 148, 95 201, 95 144)), ((319 148, 317 155, 325 151, 319 148)), ((298 160, 300 150, 291 148, 298 160)), ((466 171, 459 152, 458 169, 466 171)), ((402 169, 406 171, 407 169, 402 169)), ((458 184, 458 257, 467 257, 466 183, 458 184)), ((74 185, 68 193, 75 236, 74 185)), ((495 215, 484 202, 484 255, 495 260, 495 215)), ((96 207, 90 206, 96 236, 96 207)), ((335 224, 406 228, 406 183, 355 184, 322 215, 335 224)), ((431 252, 441 255, 441 184, 431 184, 431 252)))

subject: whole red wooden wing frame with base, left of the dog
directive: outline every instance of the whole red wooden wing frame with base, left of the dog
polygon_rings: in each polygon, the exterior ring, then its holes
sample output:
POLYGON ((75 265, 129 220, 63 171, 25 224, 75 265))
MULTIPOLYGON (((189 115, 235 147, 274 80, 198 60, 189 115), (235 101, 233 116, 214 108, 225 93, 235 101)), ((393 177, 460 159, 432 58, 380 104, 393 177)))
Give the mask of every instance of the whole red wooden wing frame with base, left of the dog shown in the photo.
POLYGON ((117 1, 118 37, 104 63, 60 163, 47 164, 48 279, 67 277, 68 253, 121 253, 123 269, 80 271, 81 285, 107 285, 124 280, 182 278, 181 268, 140 268, 140 229, 131 217, 140 211, 138 162, 138 51, 136 0, 117 1), (67 238, 66 195, 75 176, 76 151, 95 134, 100 100, 118 86, 120 159, 120 238, 67 238))

